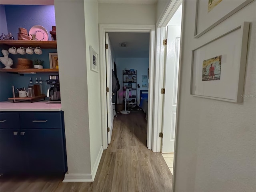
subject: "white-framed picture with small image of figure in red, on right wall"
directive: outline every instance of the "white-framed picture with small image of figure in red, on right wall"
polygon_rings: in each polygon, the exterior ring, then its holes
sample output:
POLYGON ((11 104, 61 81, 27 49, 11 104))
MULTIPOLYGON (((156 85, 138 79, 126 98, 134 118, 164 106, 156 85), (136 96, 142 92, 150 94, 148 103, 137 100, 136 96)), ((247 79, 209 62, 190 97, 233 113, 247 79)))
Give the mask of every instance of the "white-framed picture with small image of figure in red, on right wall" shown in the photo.
POLYGON ((190 94, 242 102, 250 22, 192 50, 190 94))

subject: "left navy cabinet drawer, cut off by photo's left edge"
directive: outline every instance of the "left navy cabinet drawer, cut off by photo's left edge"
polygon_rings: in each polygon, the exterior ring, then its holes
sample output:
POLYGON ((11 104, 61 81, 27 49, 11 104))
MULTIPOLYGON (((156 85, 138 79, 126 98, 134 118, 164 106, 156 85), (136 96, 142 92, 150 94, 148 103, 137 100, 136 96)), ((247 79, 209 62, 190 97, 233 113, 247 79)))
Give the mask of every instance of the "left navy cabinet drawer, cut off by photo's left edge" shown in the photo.
POLYGON ((1 129, 19 129, 20 120, 18 113, 0 113, 0 128, 1 129))

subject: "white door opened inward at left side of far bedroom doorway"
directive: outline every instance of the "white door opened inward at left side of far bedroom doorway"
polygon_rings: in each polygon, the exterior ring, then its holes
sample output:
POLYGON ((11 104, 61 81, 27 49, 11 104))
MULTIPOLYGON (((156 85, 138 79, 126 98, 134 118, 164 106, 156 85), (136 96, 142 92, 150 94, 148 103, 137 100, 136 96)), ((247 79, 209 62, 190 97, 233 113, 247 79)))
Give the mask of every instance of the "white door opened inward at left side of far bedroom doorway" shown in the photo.
POLYGON ((107 118, 108 118, 108 144, 111 142, 111 136, 113 131, 113 120, 114 120, 114 110, 113 110, 113 96, 112 96, 112 54, 110 40, 108 38, 108 33, 106 33, 106 81, 107 81, 107 118))

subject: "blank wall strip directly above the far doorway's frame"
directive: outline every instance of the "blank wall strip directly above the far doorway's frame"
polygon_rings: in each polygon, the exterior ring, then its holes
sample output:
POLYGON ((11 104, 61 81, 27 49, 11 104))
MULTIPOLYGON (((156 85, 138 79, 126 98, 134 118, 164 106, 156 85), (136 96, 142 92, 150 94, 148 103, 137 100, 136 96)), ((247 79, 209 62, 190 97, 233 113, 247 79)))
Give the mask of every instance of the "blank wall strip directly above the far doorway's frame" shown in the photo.
POLYGON ((156 24, 156 4, 99 3, 99 23, 156 24))

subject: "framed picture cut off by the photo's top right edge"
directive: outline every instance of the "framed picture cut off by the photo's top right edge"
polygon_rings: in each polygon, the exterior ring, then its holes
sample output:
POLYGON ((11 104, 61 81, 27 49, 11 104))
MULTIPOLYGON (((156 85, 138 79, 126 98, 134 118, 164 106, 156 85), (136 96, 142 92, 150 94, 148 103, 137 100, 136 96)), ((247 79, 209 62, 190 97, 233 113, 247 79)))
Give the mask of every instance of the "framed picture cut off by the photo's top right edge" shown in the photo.
POLYGON ((197 0, 194 38, 199 38, 253 0, 197 0))

